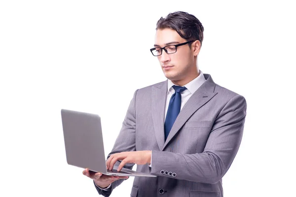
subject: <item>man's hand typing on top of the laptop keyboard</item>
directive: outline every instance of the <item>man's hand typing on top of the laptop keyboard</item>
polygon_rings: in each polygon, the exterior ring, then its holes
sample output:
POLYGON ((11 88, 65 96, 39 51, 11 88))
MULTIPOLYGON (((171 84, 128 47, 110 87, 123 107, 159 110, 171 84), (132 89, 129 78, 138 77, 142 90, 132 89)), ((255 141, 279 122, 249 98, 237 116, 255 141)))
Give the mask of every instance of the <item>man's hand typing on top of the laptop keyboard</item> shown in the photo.
POLYGON ((113 169, 116 161, 122 160, 119 164, 117 171, 120 171, 126 163, 134 163, 144 165, 151 162, 152 151, 131 151, 121 152, 111 155, 107 160, 107 169, 113 169))

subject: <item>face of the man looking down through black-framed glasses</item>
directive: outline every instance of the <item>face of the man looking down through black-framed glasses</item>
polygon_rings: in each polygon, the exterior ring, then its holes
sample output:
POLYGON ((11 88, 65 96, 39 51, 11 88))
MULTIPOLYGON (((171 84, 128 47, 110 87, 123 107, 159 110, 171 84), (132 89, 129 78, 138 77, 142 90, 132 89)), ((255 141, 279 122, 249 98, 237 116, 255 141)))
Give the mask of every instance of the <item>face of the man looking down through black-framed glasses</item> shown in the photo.
MULTIPOLYGON (((176 45, 187 42, 175 30, 166 28, 158 29, 155 35, 154 47, 165 47, 167 45, 176 45)), ((177 47, 177 52, 167 54, 162 50, 162 55, 157 56, 162 71, 166 78, 172 81, 185 80, 190 77, 190 73, 196 70, 196 63, 194 63, 194 54, 189 44, 177 47)))

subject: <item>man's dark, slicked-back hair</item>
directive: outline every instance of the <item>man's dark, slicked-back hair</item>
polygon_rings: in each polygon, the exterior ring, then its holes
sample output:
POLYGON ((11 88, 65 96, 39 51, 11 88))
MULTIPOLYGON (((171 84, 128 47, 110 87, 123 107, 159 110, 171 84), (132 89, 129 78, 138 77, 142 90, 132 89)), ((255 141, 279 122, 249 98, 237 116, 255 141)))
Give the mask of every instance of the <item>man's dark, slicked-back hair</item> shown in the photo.
POLYGON ((157 21, 156 30, 165 28, 176 30, 187 41, 199 40, 202 43, 204 28, 192 14, 177 11, 169 13, 165 18, 161 17, 157 21))

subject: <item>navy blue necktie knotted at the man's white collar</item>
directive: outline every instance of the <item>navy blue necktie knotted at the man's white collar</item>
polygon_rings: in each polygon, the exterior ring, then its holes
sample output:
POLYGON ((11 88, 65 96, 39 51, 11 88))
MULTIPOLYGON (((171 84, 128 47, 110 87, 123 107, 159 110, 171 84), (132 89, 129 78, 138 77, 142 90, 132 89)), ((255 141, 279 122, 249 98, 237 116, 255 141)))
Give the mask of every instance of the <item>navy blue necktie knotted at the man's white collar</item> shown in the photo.
POLYGON ((181 110, 181 93, 187 88, 181 86, 173 86, 175 93, 170 99, 169 108, 164 122, 164 139, 168 137, 173 124, 181 110))

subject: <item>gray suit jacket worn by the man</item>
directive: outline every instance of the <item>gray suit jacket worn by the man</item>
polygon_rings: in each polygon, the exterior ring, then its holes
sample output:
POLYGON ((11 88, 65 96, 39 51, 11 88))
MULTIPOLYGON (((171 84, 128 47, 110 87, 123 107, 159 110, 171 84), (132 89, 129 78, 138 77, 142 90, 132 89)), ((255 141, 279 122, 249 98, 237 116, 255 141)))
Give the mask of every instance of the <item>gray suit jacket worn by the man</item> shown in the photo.
MULTIPOLYGON (((131 197, 223 197, 222 177, 239 149, 247 103, 243 96, 215 84, 211 75, 204 77, 206 81, 185 103, 166 141, 167 81, 135 92, 109 156, 152 150, 152 167, 138 165, 137 171, 157 177, 135 177, 131 197)), ((122 181, 113 182, 108 191, 96 188, 110 196, 122 181)))

